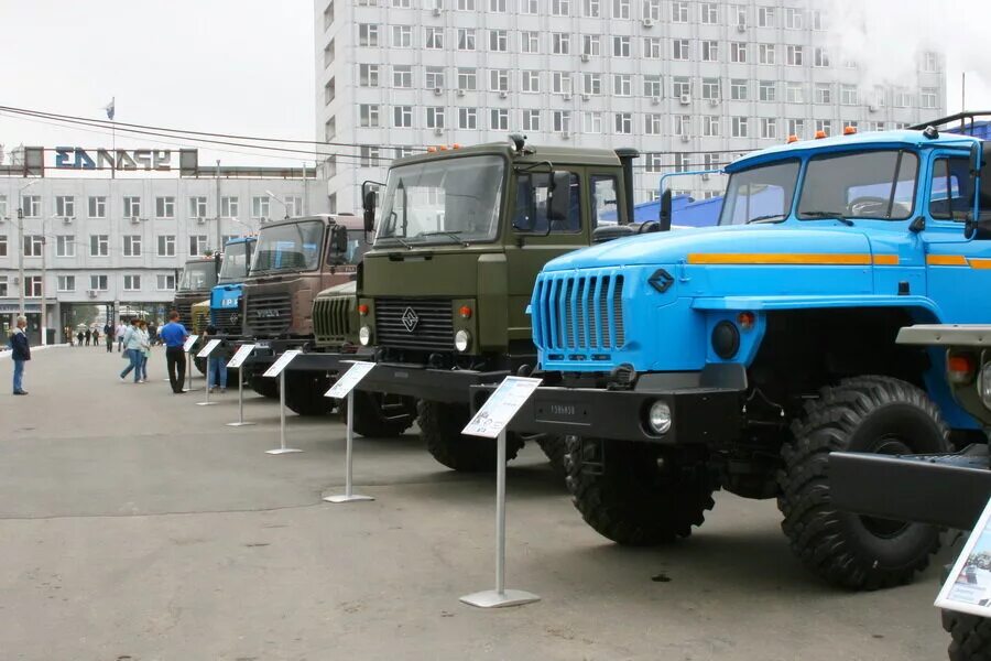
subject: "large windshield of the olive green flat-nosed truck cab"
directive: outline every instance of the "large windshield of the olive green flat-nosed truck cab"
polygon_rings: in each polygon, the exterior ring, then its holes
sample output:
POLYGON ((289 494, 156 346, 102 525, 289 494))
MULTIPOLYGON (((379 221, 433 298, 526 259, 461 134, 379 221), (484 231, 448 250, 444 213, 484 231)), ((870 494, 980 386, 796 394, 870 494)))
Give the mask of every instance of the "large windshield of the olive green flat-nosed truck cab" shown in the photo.
POLYGON ((504 171, 500 156, 392 169, 375 245, 491 241, 499 232, 504 171))

